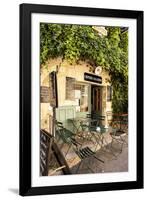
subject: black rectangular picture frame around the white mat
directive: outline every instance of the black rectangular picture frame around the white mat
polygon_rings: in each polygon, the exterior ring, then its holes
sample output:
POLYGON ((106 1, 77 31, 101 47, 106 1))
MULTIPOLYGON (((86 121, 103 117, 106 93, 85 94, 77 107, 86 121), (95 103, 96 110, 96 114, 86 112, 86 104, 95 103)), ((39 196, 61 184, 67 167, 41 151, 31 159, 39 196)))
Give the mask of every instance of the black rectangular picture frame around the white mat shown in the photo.
POLYGON ((20 174, 19 194, 45 195, 59 193, 128 190, 143 188, 143 11, 67 7, 53 5, 20 5, 20 174), (31 186, 31 14, 51 13, 83 16, 128 18, 137 20, 137 180, 66 186, 31 186))

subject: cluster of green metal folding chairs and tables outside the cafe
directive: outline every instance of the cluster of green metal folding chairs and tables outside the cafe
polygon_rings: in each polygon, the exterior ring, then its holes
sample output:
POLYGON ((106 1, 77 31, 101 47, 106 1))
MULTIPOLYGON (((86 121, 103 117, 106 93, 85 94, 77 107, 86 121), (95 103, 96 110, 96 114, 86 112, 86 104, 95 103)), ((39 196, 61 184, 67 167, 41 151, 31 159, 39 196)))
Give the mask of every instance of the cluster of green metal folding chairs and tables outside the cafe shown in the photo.
MULTIPOLYGON (((110 115, 110 113, 109 113, 110 115)), ((78 140, 79 132, 73 133, 72 131, 66 129, 63 126, 62 122, 56 121, 56 141, 62 144, 60 149, 64 149, 64 156, 66 157, 70 150, 74 152, 81 160, 78 163, 77 169, 75 173, 78 173, 81 164, 84 162, 85 159, 93 157, 100 163, 104 163, 104 161, 96 156, 97 146, 100 145, 100 148, 108 150, 115 159, 121 154, 123 150, 123 146, 127 145, 125 140, 125 136, 128 134, 128 115, 127 114, 113 114, 111 115, 111 121, 109 120, 109 129, 106 129, 103 126, 102 121, 105 120, 104 116, 95 115, 87 115, 86 119, 81 119, 80 127, 81 127, 81 134, 80 137, 83 136, 83 140, 78 140), (88 119, 88 120, 87 120, 88 119), (84 133, 87 132, 91 134, 90 138, 96 141, 95 150, 91 148, 91 146, 86 143, 86 146, 83 145, 84 143, 84 133), (105 139, 105 133, 108 133, 111 141, 107 142, 105 139), (68 148, 64 148, 64 145, 68 146, 68 148), (115 144, 118 144, 119 149, 115 149, 115 144), (66 152, 65 152, 66 149, 66 152), (117 153, 116 153, 117 152, 117 153)), ((79 120, 78 120, 79 121, 79 120)), ((93 144, 93 146, 94 146, 93 144)), ((108 152, 107 151, 107 152, 108 152)), ((91 169, 90 165, 86 166, 91 172, 94 172, 91 169)), ((98 166, 99 167, 99 166, 98 166)), ((101 170, 103 171, 103 170, 101 170)))

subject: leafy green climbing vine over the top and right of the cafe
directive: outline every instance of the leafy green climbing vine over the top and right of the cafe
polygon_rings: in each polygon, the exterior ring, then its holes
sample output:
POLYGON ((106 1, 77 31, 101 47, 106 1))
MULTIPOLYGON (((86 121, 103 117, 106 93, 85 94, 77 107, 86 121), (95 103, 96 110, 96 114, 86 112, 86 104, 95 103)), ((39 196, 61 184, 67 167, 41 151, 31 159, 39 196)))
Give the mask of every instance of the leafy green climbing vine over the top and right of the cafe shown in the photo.
POLYGON ((62 57, 71 64, 86 60, 109 71, 113 86, 114 112, 128 109, 128 32, 108 27, 100 36, 92 26, 40 24, 40 62, 62 57))

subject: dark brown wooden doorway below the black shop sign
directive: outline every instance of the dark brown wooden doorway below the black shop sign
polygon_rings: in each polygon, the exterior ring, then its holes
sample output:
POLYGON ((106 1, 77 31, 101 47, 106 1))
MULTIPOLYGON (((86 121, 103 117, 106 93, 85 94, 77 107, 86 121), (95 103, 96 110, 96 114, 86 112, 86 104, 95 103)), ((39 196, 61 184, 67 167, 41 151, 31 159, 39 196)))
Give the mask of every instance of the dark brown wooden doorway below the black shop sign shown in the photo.
POLYGON ((102 87, 91 86, 91 110, 93 113, 101 114, 102 112, 102 87))

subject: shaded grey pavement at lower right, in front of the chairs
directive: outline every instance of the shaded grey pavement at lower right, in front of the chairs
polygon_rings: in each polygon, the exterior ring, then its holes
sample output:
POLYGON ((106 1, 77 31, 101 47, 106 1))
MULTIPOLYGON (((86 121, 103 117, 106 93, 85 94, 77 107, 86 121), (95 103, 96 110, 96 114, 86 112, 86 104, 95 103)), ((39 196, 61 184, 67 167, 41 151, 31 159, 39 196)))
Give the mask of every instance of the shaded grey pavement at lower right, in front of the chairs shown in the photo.
MULTIPOLYGON (((114 157, 113 154, 106 149, 100 149, 97 151, 96 155, 98 158, 104 161, 100 163, 93 157, 86 159, 80 167, 78 174, 87 174, 91 173, 90 170, 86 169, 86 166, 90 168, 95 173, 108 173, 108 172, 127 172, 128 171, 128 147, 124 145, 122 153, 119 151, 119 145, 114 144, 115 154, 118 155, 114 157)), ((75 172, 77 166, 72 168, 72 173, 75 172)))

